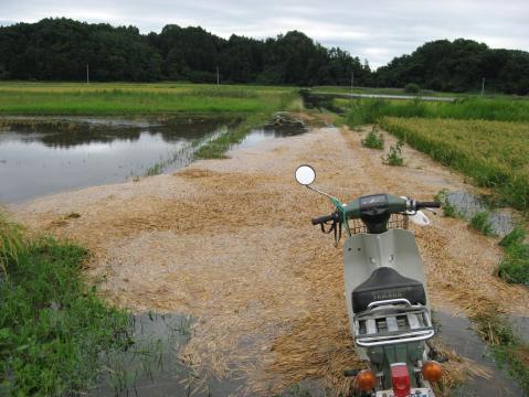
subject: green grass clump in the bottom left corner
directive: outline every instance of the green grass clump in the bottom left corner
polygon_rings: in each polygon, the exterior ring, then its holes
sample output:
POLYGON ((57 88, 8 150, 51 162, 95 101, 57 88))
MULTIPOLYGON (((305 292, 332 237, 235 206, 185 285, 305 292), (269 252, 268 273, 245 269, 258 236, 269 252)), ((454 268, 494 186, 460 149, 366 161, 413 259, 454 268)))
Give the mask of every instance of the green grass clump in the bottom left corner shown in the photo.
MULTIPOLYGON (((20 226, 1 222, 2 242, 22 242, 20 226)), ((0 278, 0 395, 86 390, 99 373, 99 355, 131 343, 129 315, 85 287, 83 248, 43 238, 12 244, 8 253, 9 277, 0 278)))

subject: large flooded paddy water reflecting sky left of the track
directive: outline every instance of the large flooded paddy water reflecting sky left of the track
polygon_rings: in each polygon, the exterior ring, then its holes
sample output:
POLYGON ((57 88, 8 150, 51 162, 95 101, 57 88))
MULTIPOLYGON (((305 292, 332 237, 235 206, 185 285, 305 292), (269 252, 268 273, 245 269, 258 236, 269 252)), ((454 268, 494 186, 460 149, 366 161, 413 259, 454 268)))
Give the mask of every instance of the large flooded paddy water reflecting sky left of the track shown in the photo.
MULTIPOLYGON (((13 119, 0 130, 0 203, 124 182, 188 165, 233 120, 13 119)), ((296 133, 255 129, 242 142, 296 133)))

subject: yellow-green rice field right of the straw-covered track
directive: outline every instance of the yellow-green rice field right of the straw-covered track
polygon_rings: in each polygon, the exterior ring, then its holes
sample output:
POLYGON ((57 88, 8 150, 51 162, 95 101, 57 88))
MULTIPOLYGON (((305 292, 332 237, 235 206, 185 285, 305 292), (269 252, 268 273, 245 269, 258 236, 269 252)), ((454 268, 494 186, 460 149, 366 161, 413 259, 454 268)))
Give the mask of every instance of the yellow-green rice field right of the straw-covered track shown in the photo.
POLYGON ((389 118, 389 132, 486 187, 506 204, 529 210, 529 124, 389 118))

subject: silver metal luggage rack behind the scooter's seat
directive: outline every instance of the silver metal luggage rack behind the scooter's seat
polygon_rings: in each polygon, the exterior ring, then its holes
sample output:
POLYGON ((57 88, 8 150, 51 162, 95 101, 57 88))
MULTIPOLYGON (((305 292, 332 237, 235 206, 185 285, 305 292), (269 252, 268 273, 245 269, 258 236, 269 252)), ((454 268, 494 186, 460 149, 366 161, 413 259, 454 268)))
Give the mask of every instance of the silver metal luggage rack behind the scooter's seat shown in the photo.
POLYGON ((355 343, 362 347, 425 341, 435 334, 427 309, 406 299, 372 302, 353 321, 355 343))

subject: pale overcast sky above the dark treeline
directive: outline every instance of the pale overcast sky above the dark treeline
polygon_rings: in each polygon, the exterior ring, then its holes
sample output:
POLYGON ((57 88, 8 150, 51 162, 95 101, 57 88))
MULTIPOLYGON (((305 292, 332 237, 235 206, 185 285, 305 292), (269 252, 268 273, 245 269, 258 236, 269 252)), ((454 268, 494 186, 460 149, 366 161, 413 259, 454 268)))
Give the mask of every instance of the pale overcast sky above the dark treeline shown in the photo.
POLYGON ((142 33, 169 23, 200 25, 223 37, 296 29, 373 67, 437 39, 529 50, 529 0, 0 0, 2 25, 46 17, 133 24, 142 33))

